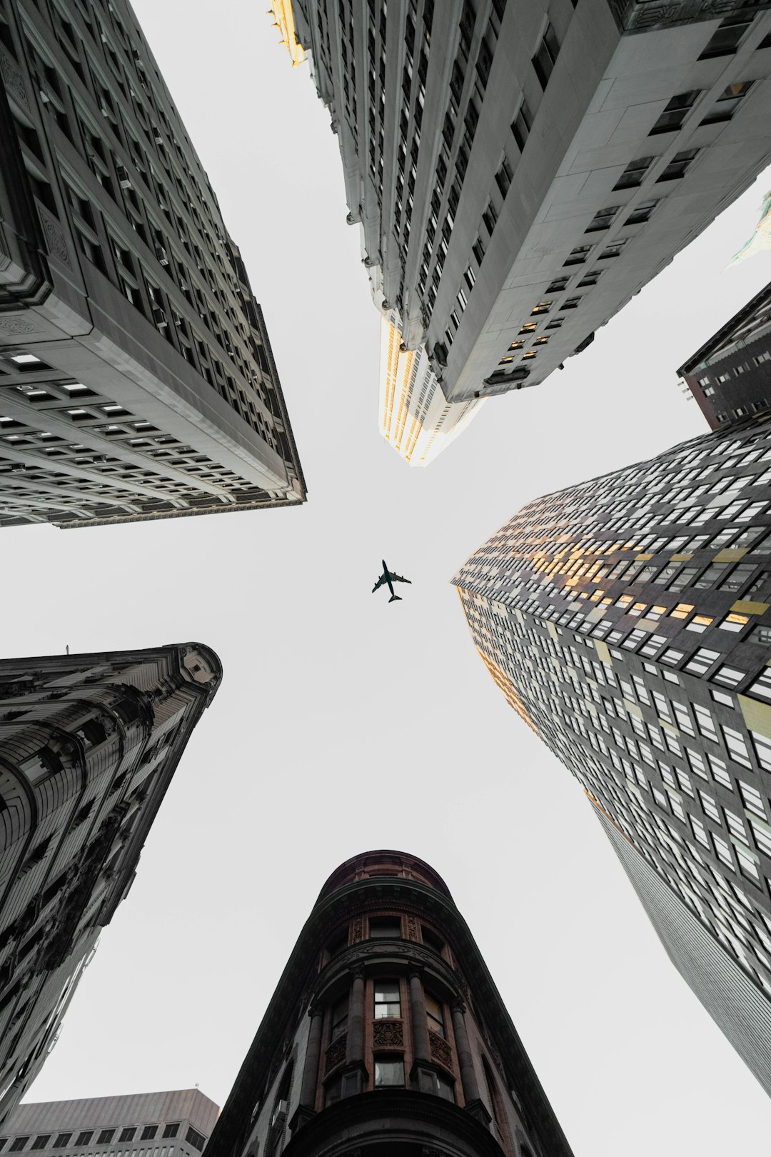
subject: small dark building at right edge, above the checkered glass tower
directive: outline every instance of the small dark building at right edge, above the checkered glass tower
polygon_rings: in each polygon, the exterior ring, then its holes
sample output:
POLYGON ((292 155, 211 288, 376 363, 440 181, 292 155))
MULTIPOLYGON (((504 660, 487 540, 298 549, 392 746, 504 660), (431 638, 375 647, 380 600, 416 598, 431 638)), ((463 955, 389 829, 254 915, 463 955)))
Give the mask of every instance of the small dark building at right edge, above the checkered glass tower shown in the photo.
POLYGON ((710 428, 743 421, 771 405, 771 283, 677 370, 710 428))

